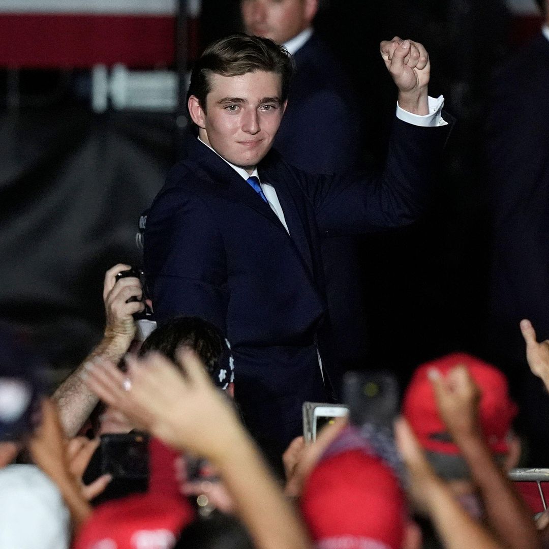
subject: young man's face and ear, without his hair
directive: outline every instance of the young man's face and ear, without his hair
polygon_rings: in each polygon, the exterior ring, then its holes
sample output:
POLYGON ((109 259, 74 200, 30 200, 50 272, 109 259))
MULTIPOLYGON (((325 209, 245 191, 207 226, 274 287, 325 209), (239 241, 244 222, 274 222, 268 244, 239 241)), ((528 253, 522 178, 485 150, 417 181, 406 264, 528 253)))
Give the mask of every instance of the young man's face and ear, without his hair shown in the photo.
POLYGON ((251 173, 271 148, 282 120, 281 76, 265 71, 212 74, 210 85, 206 110, 195 96, 189 98, 198 135, 225 160, 251 173))

